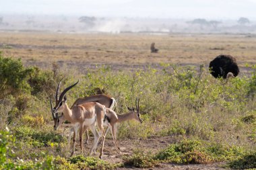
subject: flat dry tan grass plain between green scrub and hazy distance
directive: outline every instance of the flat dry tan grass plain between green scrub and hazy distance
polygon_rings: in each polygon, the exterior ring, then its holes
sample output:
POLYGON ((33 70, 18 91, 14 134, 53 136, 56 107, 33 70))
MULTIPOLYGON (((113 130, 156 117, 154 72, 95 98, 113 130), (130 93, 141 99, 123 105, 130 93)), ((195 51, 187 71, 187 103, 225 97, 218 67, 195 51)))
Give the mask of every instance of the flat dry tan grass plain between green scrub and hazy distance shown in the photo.
POLYGON ((145 35, 0 33, 0 50, 23 62, 71 61, 88 64, 145 65, 170 62, 208 64, 231 54, 239 65, 256 62, 256 39, 246 35, 145 35), (150 53, 156 43, 159 52, 150 53))

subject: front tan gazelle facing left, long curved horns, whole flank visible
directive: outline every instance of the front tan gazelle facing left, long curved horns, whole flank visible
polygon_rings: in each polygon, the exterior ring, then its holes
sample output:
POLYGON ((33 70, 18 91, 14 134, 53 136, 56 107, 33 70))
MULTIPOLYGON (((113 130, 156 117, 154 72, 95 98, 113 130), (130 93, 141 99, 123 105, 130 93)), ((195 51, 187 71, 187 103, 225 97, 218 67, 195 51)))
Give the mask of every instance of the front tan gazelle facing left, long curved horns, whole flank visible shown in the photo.
MULTIPOLYGON (((79 80, 77 81, 77 83, 78 82, 79 80)), ((96 123, 97 123, 98 128, 100 129, 100 132, 101 132, 100 135, 102 136, 102 148, 100 151, 100 159, 102 159, 104 140, 105 140, 105 132, 104 132, 103 124, 104 124, 104 118, 106 118, 106 107, 97 102, 88 102, 88 103, 83 103, 81 105, 75 105, 73 106, 72 109, 69 109, 69 106, 67 105, 67 97, 65 93, 67 93, 67 91, 69 91, 72 87, 77 85, 77 83, 70 85, 69 87, 64 89, 59 98, 58 96, 56 97, 57 102, 54 108, 50 98, 52 115, 53 115, 53 119, 55 120, 54 128, 55 130, 57 130, 59 128, 59 125, 61 125, 61 123, 64 120, 68 120, 69 122, 71 122, 71 124, 73 124, 75 128, 79 128, 79 142, 80 142, 80 147, 83 153, 84 145, 82 144, 83 143, 82 137, 84 132, 84 126, 88 126, 90 130, 92 130, 92 133, 94 134, 94 144, 90 148, 90 153, 89 153, 89 155, 92 155, 92 151, 95 150, 100 137, 96 130, 96 123), (62 112, 61 116, 58 115, 59 112, 62 112)), ((58 95, 58 92, 57 92, 57 95, 58 95)), ((75 133, 74 133, 74 138, 75 138, 75 133)), ((73 143, 73 151, 71 155, 73 155, 74 153, 75 153, 75 142, 73 143)))

